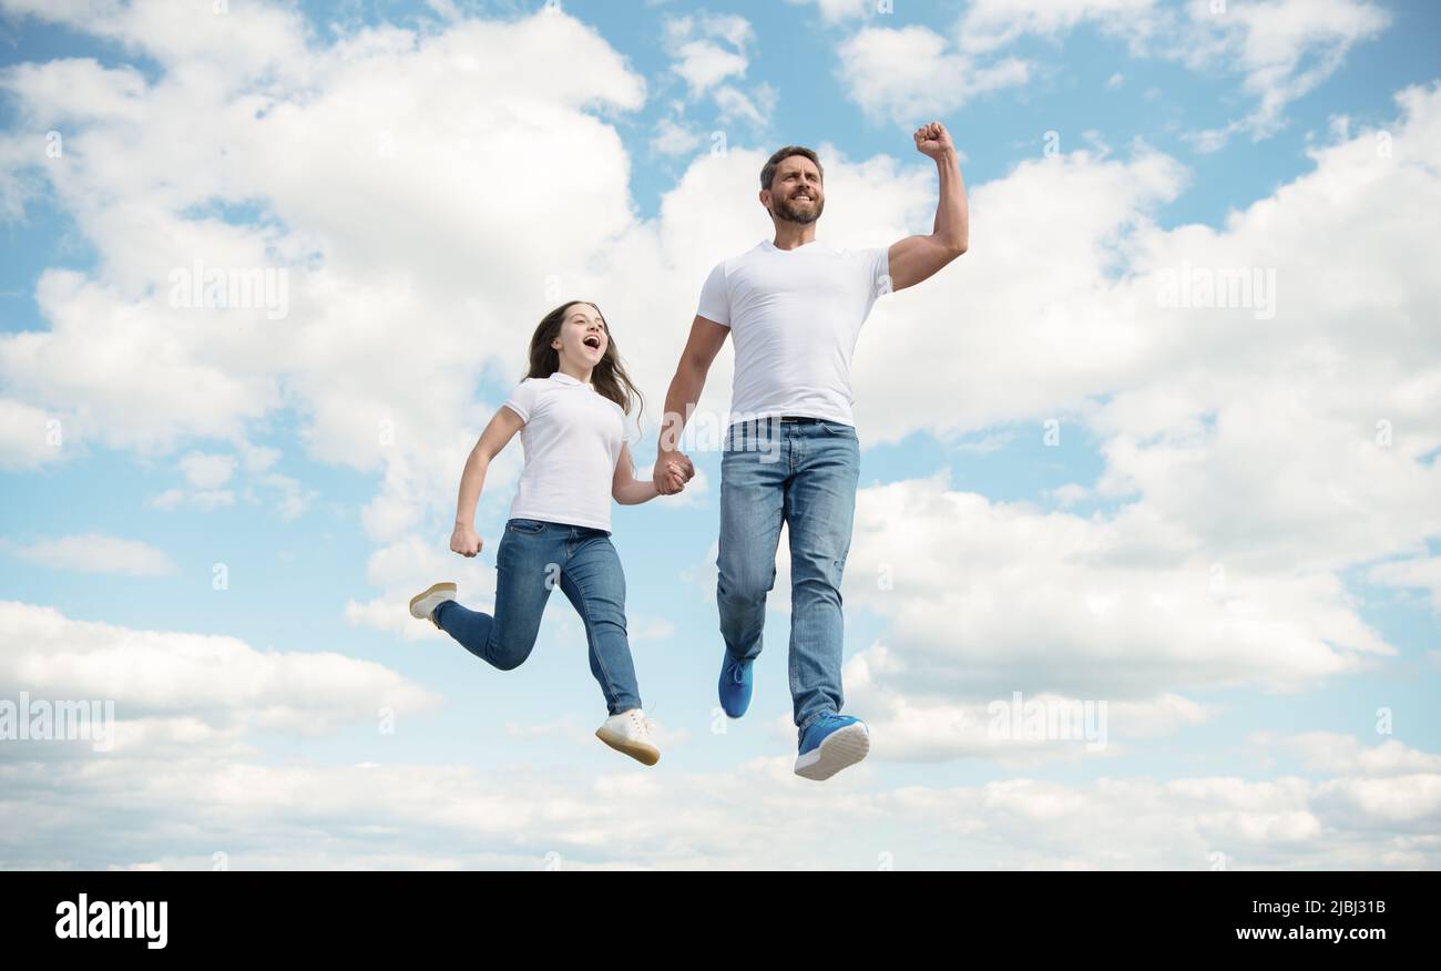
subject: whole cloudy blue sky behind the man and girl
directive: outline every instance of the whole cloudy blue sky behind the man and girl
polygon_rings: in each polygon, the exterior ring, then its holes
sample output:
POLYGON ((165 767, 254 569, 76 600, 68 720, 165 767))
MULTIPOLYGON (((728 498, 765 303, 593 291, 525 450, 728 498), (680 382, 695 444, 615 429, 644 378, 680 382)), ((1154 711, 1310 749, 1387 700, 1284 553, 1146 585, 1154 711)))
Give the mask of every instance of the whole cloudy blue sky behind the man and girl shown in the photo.
POLYGON ((0 697, 120 722, 0 746, 35 810, 0 864, 1437 864, 1434 4, 562 6, 0 4, 0 697), (556 281, 648 465, 706 269, 768 233, 759 160, 824 147, 820 235, 882 245, 929 232, 931 120, 971 252, 856 353, 862 768, 790 775, 784 558, 715 730, 713 452, 614 510, 656 769, 589 738, 563 598, 512 673, 405 615, 490 595, 519 445, 474 562, 455 486, 556 281), (193 259, 288 268, 288 314, 169 305, 193 259), (1163 305, 1180 261, 1274 269, 1275 318, 1163 305), (1107 748, 987 738, 1012 692, 1108 703, 1107 748), (40 813, 85 798, 146 821, 40 813))

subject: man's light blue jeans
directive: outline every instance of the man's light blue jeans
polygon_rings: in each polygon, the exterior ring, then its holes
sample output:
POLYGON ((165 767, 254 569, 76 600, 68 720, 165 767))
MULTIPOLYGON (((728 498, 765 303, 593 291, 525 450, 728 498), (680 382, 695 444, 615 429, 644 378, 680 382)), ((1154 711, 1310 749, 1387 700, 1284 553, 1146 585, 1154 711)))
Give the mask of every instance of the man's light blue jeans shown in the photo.
POLYGON ((803 732, 839 712, 844 622, 840 576, 860 478, 856 429, 839 422, 738 422, 720 458, 716 605, 726 653, 754 660, 775 585, 781 523, 791 542, 791 700, 803 732))

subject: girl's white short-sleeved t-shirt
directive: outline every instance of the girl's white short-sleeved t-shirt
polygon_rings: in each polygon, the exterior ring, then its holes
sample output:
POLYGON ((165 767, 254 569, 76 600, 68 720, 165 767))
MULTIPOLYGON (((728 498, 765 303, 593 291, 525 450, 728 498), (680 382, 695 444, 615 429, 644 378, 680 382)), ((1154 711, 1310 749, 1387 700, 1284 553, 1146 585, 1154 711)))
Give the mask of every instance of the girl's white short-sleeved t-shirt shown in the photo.
POLYGON ((611 483, 625 444, 625 412, 565 372, 526 377, 506 408, 520 415, 526 465, 510 519, 611 529, 611 483))

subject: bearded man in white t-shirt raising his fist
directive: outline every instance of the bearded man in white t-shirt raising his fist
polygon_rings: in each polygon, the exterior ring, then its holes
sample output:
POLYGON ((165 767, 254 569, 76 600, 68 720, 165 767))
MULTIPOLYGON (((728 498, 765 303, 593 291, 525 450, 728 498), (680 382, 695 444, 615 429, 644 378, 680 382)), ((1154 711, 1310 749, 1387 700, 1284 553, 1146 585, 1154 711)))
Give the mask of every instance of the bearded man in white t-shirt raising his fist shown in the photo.
POLYGON ((761 653, 765 595, 775 583, 781 524, 790 527, 790 683, 798 729, 795 774, 827 779, 870 751, 860 719, 840 715, 843 617, 840 579, 860 475, 852 416, 850 357, 876 298, 929 278, 965 252, 965 186, 940 122, 915 131, 935 160, 941 199, 928 236, 842 251, 817 242, 826 207, 820 158, 787 146, 761 170, 761 205, 775 226, 715 267, 700 291, 690 339, 666 393, 656 488, 672 490, 667 462, 690 470, 680 432, 710 362, 735 337, 735 382, 720 462, 716 605, 725 658, 720 706, 741 717, 761 653))

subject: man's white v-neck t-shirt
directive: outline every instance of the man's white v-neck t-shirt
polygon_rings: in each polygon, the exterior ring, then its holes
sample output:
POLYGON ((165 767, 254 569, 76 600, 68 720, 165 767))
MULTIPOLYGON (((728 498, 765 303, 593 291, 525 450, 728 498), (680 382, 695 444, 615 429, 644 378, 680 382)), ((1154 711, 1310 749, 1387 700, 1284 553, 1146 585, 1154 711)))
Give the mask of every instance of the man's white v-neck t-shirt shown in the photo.
POLYGON ((876 298, 889 292, 889 246, 836 249, 769 239, 716 264, 696 314, 731 328, 731 421, 807 415, 855 425, 850 357, 876 298))

